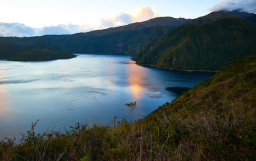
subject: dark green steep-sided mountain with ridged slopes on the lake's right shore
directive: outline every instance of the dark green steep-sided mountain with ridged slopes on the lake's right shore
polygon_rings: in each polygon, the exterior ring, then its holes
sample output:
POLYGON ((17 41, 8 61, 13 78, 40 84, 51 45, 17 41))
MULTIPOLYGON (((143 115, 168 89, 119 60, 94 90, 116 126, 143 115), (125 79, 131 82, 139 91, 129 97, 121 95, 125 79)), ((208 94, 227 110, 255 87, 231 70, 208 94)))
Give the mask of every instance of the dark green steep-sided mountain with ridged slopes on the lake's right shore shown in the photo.
POLYGON ((238 17, 186 24, 143 46, 139 65, 178 70, 219 70, 234 59, 256 54, 256 26, 238 17))

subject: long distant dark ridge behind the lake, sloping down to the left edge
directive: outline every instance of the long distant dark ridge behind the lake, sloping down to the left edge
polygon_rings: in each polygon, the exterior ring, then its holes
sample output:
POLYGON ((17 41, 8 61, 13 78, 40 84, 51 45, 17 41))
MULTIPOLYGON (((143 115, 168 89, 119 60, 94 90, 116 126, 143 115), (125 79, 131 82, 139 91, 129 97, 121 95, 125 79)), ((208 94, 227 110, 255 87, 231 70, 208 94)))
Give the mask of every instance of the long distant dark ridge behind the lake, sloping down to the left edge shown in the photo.
MULTIPOLYGON (((175 26, 188 22, 186 19, 159 17, 121 27, 91 31, 88 33, 45 35, 24 38, 1 37, 0 43, 29 46, 47 41, 61 50, 88 54, 137 54, 144 43, 159 38, 175 26)), ((1 48, 0 48, 1 50, 1 48)))

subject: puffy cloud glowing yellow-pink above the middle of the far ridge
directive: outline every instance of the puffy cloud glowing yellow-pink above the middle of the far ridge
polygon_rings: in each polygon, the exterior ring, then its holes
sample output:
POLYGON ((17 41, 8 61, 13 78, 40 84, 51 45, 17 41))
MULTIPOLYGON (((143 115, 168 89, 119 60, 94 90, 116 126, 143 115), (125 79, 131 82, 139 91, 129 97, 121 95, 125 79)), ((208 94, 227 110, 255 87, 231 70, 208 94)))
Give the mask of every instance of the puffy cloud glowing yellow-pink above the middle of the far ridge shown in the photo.
POLYGON ((152 7, 146 6, 144 8, 138 7, 133 11, 128 13, 122 12, 114 18, 101 19, 100 27, 108 28, 108 27, 116 27, 122 26, 125 24, 131 24, 132 22, 141 22, 145 20, 149 20, 155 17, 159 17, 157 12, 152 10, 152 7))

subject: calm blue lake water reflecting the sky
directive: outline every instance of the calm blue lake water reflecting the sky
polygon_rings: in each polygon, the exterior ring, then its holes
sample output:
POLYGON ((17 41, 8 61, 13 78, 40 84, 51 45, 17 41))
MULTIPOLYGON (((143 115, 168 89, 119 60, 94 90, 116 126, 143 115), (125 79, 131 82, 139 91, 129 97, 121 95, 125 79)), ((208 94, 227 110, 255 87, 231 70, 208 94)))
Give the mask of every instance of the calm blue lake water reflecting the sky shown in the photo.
POLYGON ((127 102, 138 102, 132 120, 143 118, 177 97, 165 88, 191 88, 212 75, 138 66, 127 56, 0 61, 0 139, 19 137, 37 119, 36 132, 129 120, 127 102))

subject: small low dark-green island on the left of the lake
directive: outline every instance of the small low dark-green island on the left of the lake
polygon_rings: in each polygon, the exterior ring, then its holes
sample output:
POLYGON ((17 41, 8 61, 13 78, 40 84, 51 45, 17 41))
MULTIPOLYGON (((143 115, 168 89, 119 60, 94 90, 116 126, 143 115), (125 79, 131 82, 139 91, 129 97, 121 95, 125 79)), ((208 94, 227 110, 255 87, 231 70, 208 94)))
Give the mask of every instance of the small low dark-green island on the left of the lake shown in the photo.
POLYGON ((57 59, 70 59, 77 57, 67 50, 53 51, 49 49, 30 49, 24 52, 19 52, 12 57, 6 59, 7 61, 50 61, 57 59))

